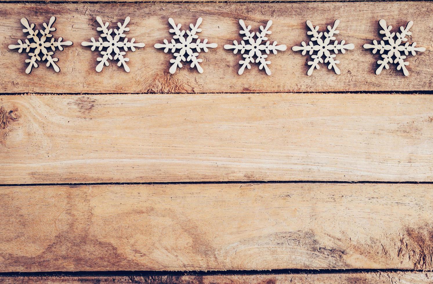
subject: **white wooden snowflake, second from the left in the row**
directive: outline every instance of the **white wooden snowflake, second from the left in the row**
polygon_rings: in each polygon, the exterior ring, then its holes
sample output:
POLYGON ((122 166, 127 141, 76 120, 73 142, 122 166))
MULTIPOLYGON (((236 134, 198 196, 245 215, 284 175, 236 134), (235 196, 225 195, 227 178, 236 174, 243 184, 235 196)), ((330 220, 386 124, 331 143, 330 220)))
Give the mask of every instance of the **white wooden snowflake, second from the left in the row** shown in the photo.
POLYGON ((100 54, 102 57, 98 57, 96 60, 100 61, 100 63, 96 66, 96 71, 100 72, 102 71, 102 68, 105 66, 110 65, 108 63, 108 59, 110 60, 119 60, 117 63, 117 66, 120 67, 120 65, 123 65, 123 68, 126 72, 129 72, 130 69, 128 65, 126 65, 126 62, 129 61, 129 58, 123 57, 123 55, 126 55, 126 52, 128 51, 128 48, 131 49, 132 52, 136 51, 136 47, 144 47, 144 43, 142 42, 135 42, 135 39, 132 38, 130 42, 128 42, 128 38, 126 38, 126 35, 124 32, 128 32, 129 28, 126 27, 128 25, 131 18, 126 17, 125 22, 123 24, 117 23, 117 26, 119 26, 119 29, 114 29, 114 35, 112 35, 113 29, 107 29, 108 25, 110 23, 103 23, 100 16, 96 17, 96 20, 100 24, 100 27, 97 27, 97 31, 102 31, 102 34, 98 41, 95 41, 94 38, 91 38, 91 42, 81 42, 81 45, 83 46, 91 46, 91 50, 94 51, 95 48, 98 48, 98 51, 100 51, 100 54), (121 41, 122 38, 125 38, 123 41, 121 41), (105 41, 104 41, 105 39, 105 41), (123 48, 124 51, 120 51, 121 48, 123 48), (112 55, 114 53, 114 56, 112 55))

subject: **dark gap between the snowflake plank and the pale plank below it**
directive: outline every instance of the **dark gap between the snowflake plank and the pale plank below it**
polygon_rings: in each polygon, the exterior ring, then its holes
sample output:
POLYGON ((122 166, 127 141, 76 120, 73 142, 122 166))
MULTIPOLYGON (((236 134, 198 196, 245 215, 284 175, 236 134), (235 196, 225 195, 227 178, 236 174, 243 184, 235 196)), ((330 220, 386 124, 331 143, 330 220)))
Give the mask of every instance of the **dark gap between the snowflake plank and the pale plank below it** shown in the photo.
POLYGON ((0 96, 68 96, 68 95, 81 95, 81 96, 93 96, 93 95, 219 95, 219 94, 390 94, 390 95, 431 95, 433 90, 359 90, 359 91, 285 91, 285 92, 205 92, 205 93, 50 93, 50 92, 23 92, 23 93, 0 93, 0 96))

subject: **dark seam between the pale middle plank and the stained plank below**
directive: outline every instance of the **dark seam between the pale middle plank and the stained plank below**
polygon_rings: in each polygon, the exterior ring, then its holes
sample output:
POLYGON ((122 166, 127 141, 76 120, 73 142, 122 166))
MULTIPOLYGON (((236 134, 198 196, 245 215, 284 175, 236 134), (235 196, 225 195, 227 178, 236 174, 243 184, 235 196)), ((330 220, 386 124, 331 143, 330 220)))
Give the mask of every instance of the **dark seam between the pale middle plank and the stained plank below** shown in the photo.
POLYGON ((168 181, 168 182, 94 182, 0 184, 0 187, 19 186, 86 186, 86 185, 169 185, 169 184, 433 184, 433 181, 168 181))

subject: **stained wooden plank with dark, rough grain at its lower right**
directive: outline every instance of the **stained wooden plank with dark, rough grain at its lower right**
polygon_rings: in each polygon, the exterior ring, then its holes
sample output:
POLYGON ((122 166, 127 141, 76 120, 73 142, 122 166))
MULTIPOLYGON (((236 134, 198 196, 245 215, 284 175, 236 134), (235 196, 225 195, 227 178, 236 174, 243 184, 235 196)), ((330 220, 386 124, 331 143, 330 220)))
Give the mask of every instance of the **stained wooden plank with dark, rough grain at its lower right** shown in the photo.
POLYGON ((432 184, 2 187, 0 271, 433 268, 432 184))

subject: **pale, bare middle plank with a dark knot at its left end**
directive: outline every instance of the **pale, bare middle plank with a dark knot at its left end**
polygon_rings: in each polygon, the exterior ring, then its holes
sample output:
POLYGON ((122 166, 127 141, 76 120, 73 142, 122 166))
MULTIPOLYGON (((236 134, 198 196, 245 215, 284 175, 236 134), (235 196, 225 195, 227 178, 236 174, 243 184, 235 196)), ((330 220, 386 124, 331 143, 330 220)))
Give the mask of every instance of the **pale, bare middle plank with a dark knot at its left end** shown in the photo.
POLYGON ((0 183, 433 181, 433 96, 0 96, 0 183))

